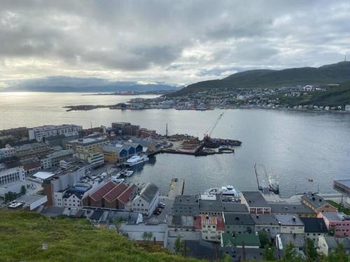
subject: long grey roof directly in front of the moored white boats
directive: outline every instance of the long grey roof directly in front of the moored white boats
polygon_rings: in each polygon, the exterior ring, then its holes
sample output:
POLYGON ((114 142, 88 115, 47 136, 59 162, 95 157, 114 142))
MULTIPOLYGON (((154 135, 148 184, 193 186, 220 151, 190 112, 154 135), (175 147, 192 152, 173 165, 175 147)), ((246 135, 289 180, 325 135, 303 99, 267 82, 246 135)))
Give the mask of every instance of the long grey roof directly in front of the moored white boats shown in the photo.
POLYGON ((241 203, 223 202, 220 198, 216 200, 200 200, 201 212, 237 212, 248 213, 246 205, 241 203))

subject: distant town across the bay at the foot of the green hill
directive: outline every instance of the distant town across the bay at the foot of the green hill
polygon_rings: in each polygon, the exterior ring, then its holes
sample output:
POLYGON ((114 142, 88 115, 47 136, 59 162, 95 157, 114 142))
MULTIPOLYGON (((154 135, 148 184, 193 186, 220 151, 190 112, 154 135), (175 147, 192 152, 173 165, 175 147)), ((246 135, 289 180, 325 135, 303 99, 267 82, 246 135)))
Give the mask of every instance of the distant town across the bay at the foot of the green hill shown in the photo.
POLYGON ((109 108, 114 110, 169 109, 213 110, 235 108, 283 109, 308 112, 350 112, 350 105, 298 104, 293 99, 307 98, 311 94, 326 92, 338 85, 298 85, 278 89, 221 89, 214 88, 190 94, 166 94, 155 99, 134 98, 116 105, 69 105, 71 110, 109 108))

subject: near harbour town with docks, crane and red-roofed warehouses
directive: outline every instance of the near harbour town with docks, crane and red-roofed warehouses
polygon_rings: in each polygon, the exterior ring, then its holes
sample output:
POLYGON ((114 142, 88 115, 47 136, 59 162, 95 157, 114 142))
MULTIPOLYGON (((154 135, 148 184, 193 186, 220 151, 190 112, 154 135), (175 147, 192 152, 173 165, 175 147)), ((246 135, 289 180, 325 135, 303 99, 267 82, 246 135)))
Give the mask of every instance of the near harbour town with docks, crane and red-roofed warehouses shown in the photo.
POLYGON ((290 243, 305 257, 310 241, 318 254, 328 255, 339 244, 349 252, 350 180, 333 182, 339 194, 331 200, 311 191, 280 198, 259 182, 256 191, 227 185, 185 195, 181 175, 169 181, 167 192, 155 181, 128 182, 133 166, 160 152, 234 152, 241 141, 210 137, 220 118, 202 140, 161 136, 125 122, 90 129, 63 124, 2 130, 1 208, 88 219, 130 240, 197 259, 260 260, 269 251, 279 259, 290 243))

